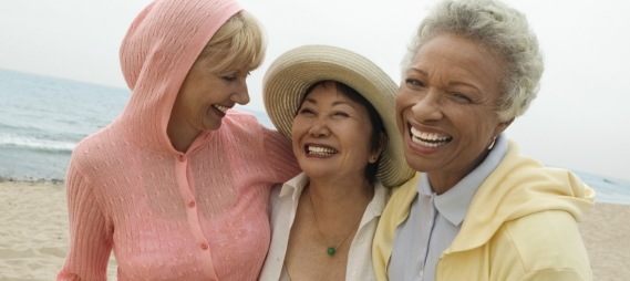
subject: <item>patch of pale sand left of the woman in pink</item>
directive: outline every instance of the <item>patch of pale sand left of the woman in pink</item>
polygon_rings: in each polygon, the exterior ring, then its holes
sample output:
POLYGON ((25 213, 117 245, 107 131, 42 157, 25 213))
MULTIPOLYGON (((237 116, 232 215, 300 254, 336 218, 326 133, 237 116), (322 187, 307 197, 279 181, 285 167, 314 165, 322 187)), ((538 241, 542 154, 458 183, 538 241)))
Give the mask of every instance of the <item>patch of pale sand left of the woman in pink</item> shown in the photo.
MULTIPOLYGON (((0 181, 0 281, 55 279, 68 250, 66 210, 62 183, 0 181)), ((116 280, 113 258, 110 266, 107 280, 116 280)))

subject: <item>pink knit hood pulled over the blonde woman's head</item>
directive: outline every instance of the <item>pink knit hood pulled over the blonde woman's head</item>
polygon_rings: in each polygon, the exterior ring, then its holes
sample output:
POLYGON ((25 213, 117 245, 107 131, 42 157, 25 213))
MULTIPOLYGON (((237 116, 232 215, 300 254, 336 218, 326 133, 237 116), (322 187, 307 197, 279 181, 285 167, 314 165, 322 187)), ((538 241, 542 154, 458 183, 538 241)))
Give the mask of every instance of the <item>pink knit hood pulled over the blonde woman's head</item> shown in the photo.
POLYGON ((133 94, 118 122, 132 142, 156 153, 177 153, 166 127, 179 87, 215 32, 241 9, 233 0, 156 0, 137 15, 120 51, 133 94))

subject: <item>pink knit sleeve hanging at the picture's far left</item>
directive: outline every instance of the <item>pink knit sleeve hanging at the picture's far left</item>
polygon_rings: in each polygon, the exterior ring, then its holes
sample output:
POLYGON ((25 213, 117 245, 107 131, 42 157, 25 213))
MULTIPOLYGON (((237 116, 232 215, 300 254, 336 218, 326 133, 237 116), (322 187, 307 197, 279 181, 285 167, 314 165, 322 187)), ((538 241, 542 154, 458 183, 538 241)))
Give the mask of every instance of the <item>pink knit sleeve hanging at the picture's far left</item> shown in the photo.
POLYGON ((90 180, 74 165, 66 177, 70 247, 56 280, 106 280, 112 231, 90 180))

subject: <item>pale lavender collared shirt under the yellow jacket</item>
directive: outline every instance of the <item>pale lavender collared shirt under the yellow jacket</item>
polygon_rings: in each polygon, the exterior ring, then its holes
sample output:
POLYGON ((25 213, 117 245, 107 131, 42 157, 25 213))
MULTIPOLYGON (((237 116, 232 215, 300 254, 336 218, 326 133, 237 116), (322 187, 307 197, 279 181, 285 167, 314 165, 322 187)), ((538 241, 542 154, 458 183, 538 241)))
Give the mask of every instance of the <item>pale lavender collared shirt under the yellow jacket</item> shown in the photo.
POLYGON ((459 232, 475 192, 506 152, 507 139, 500 134, 486 159, 442 195, 433 191, 426 174, 422 174, 410 216, 396 230, 388 268, 390 280, 435 280, 440 256, 459 232))

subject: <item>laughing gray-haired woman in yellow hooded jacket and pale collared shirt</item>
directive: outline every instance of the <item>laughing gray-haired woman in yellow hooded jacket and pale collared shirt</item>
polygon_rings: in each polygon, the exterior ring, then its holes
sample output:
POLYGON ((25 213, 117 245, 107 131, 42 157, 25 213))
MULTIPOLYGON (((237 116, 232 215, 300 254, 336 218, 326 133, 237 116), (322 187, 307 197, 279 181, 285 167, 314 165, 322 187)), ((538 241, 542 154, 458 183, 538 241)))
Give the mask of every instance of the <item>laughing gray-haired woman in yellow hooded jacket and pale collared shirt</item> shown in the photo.
POLYGON ((504 133, 544 70, 525 15, 495 0, 441 1, 403 64, 395 114, 419 173, 379 222, 378 279, 591 280, 576 221, 595 192, 504 133))

